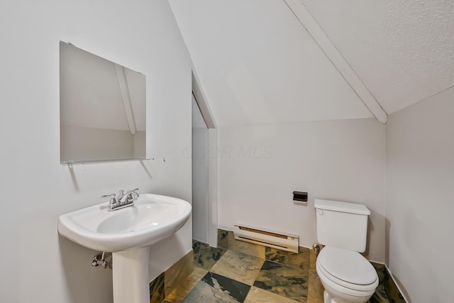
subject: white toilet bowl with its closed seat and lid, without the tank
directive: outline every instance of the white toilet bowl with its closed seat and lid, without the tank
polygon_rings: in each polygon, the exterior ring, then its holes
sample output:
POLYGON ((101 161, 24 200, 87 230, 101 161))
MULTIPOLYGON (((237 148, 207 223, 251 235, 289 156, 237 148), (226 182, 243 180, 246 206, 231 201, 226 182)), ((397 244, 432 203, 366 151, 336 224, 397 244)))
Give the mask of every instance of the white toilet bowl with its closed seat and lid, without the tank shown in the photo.
POLYGON ((325 303, 364 303, 378 285, 374 267, 360 253, 325 247, 316 261, 316 270, 325 287, 325 303))

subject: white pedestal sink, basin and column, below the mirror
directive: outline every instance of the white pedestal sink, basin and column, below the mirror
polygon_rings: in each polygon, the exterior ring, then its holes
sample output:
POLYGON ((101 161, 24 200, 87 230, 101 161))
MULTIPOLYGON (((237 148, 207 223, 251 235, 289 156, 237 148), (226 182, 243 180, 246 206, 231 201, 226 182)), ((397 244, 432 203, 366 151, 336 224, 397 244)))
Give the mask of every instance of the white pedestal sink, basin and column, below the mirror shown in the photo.
POLYGON ((191 204, 174 197, 140 194, 133 206, 107 211, 109 202, 58 218, 58 232, 93 250, 112 253, 114 303, 150 302, 150 245, 182 228, 191 204))

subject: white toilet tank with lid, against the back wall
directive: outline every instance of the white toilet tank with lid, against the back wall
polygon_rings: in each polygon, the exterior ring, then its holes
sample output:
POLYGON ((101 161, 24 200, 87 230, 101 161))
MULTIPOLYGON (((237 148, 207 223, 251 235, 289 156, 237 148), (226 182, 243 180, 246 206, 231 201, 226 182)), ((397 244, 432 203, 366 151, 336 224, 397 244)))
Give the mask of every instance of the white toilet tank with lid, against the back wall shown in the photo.
POLYGON ((317 241, 363 253, 370 210, 362 204, 315 199, 317 241))

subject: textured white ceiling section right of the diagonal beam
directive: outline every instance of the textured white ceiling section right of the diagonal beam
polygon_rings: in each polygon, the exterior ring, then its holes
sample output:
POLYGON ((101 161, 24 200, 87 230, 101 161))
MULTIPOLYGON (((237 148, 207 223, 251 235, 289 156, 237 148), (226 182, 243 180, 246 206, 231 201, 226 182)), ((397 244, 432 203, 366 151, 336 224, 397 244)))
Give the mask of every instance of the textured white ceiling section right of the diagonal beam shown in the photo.
POLYGON ((301 3, 387 114, 454 85, 454 1, 301 3))

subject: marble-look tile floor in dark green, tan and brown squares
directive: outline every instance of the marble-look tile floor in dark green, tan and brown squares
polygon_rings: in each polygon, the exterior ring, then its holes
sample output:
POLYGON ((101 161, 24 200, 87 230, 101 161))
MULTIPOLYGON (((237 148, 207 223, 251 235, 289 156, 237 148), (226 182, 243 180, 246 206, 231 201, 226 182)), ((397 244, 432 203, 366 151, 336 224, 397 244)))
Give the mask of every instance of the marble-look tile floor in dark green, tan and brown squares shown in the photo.
MULTIPOLYGON (((323 303, 323 286, 308 250, 266 248, 265 258, 194 241, 194 271, 164 303, 323 303)), ((377 272, 382 272, 380 265, 377 272)), ((380 277, 382 279, 382 277, 380 277)), ((390 302, 379 285, 370 303, 390 302)))

